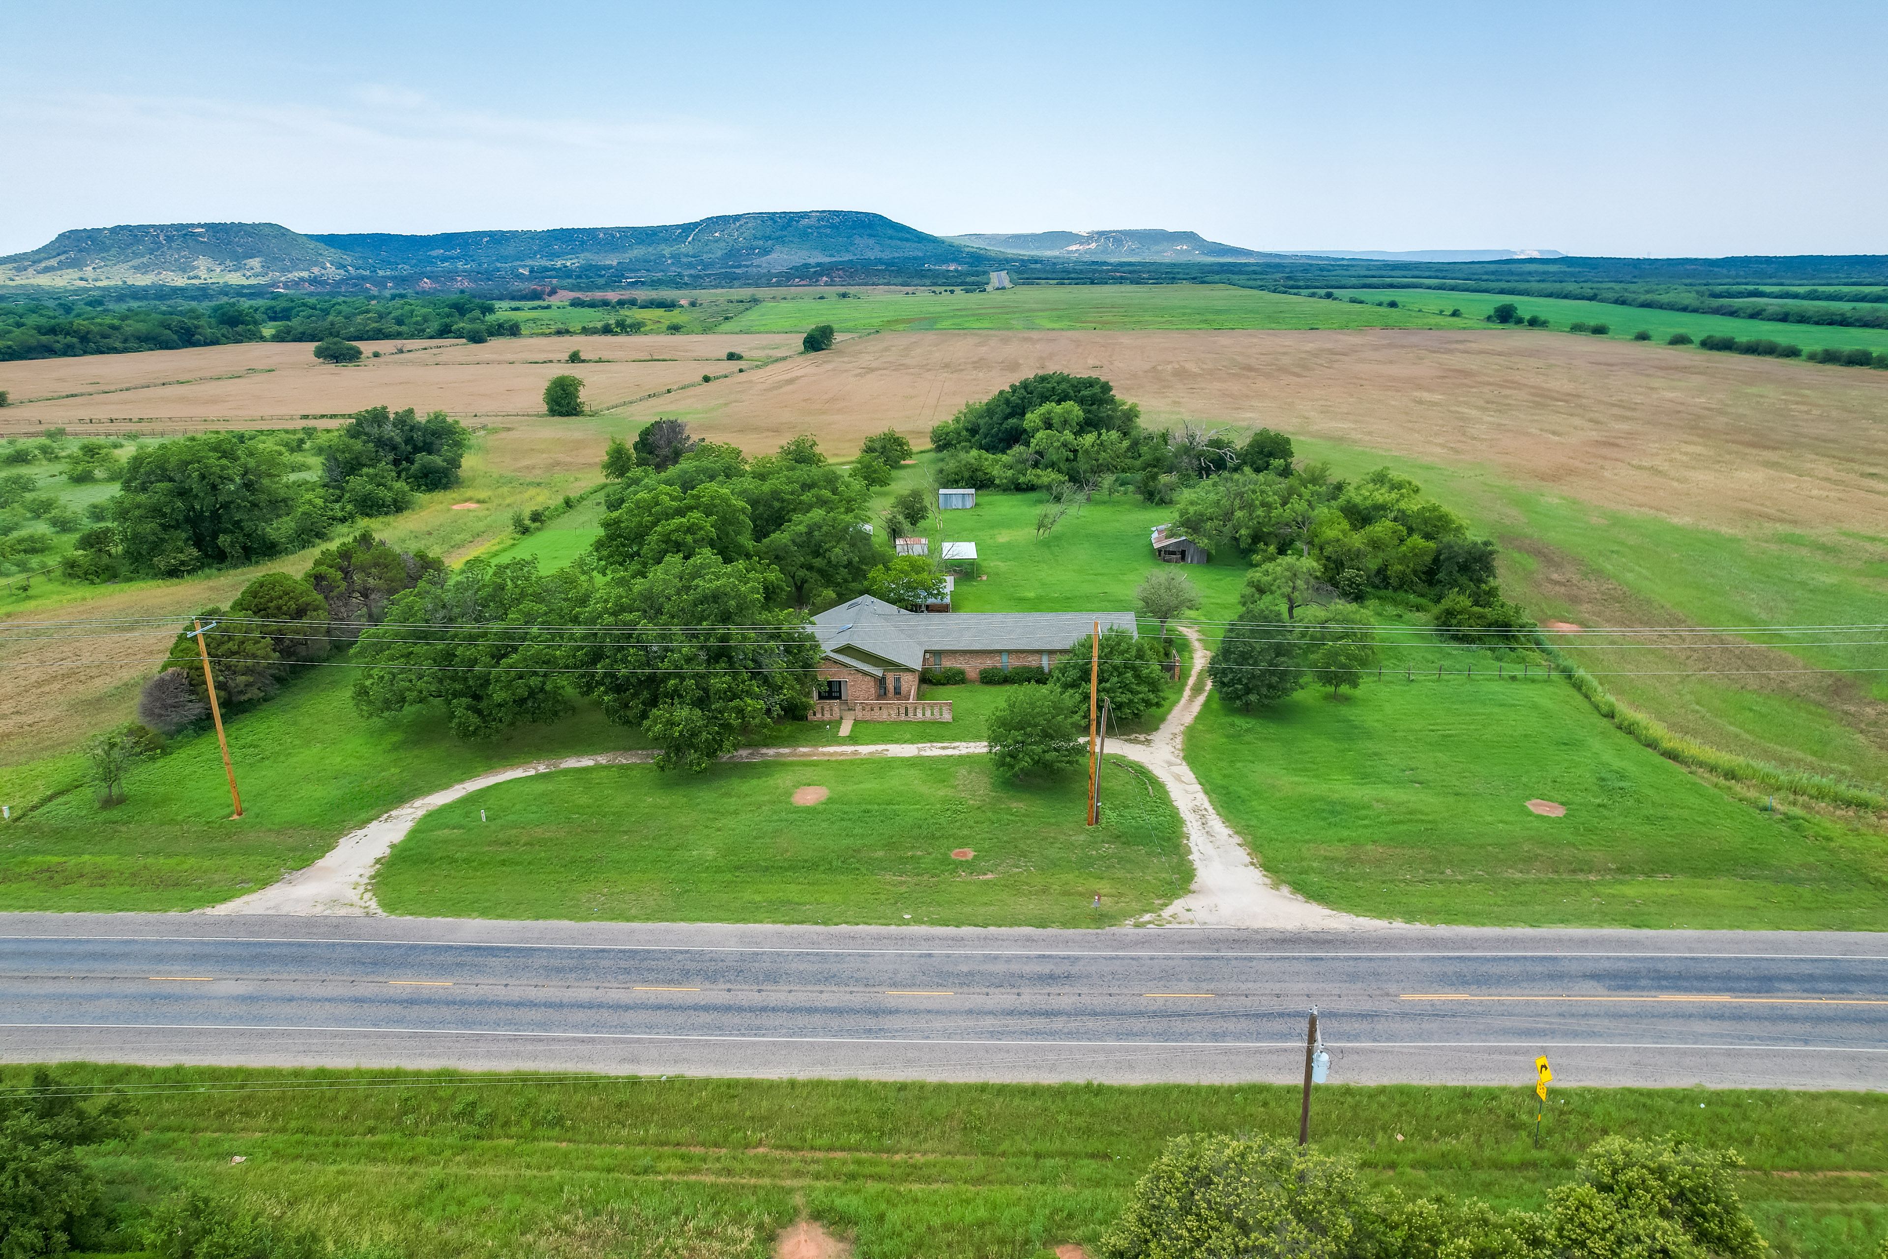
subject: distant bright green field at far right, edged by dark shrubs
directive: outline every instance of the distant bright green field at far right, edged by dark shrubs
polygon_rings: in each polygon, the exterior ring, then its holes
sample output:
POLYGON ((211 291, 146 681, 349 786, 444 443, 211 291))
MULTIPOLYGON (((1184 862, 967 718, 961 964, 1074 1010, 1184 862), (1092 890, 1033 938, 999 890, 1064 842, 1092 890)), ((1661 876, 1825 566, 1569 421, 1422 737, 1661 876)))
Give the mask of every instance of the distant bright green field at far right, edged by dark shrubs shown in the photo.
MULTIPOLYGON (((1441 289, 1337 289, 1339 296, 1361 296, 1365 302, 1386 302, 1395 300, 1401 304, 1401 313, 1429 313, 1448 311, 1461 308, 1463 319, 1452 323, 1473 321, 1480 323, 1484 315, 1495 310, 1503 302, 1512 302, 1520 308, 1522 319, 1527 315, 1541 315, 1550 321, 1548 328, 1512 328, 1514 332, 1565 332, 1573 323, 1603 323, 1612 328, 1609 336, 1616 342, 1629 342, 1633 332, 1641 328, 1652 334, 1652 340, 1671 353, 1705 355, 1714 353, 1709 349, 1697 349, 1695 345, 1665 345, 1665 338, 1673 332, 1690 332, 1692 338, 1699 336, 1735 336, 1735 338, 1754 338, 1767 336, 1775 342, 1786 345, 1801 345, 1803 349, 1822 349, 1835 345, 1839 349, 1888 349, 1888 328, 1829 328, 1814 323, 1775 323, 1769 319, 1735 319, 1731 315, 1694 315, 1682 310, 1644 310, 1639 306, 1612 306, 1610 302, 1575 302, 1567 298, 1550 296, 1503 296, 1499 293, 1448 293, 1441 289)), ((1329 306, 1329 302, 1325 302, 1329 306)), ((1371 306, 1354 306, 1352 310, 1376 310, 1371 306)), ((1399 311, 1382 311, 1395 315, 1399 311)), ((1427 327, 1427 325, 1422 325, 1427 327)), ((1822 364, 1807 364, 1822 370, 1845 370, 1854 372, 1858 368, 1824 368, 1822 364)))

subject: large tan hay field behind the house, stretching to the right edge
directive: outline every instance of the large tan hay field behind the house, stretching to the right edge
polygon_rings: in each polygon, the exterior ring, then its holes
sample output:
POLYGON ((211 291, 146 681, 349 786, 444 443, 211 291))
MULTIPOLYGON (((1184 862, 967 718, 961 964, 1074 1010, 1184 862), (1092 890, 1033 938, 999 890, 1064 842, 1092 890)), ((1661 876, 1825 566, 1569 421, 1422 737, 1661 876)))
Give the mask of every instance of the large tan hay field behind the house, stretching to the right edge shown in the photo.
POLYGON ((1144 423, 1267 425, 1682 523, 1888 519, 1888 374, 1501 330, 882 332, 627 408, 831 453, 1035 372, 1103 376, 1144 423))

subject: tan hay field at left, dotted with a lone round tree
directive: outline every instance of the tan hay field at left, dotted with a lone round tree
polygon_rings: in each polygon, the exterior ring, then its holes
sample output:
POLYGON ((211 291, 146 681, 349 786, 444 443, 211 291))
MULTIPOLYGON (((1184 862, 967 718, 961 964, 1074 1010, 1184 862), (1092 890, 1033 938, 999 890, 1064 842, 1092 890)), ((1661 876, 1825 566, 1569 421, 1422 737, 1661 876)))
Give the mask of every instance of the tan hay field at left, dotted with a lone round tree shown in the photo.
MULTIPOLYGON (((785 334, 502 338, 483 345, 434 342, 402 355, 391 353, 393 345, 362 342, 368 351, 383 347, 381 357, 349 366, 319 362, 308 344, 8 362, 0 364, 0 389, 11 391, 13 406, 0 413, 0 428, 21 432, 85 419, 325 415, 379 404, 455 415, 531 415, 544 410, 544 383, 561 372, 582 376, 585 398, 608 406, 700 381, 702 372, 723 370, 710 361, 725 364, 731 349, 750 359, 799 353, 799 338, 785 334), (572 349, 604 362, 563 362, 572 349)), ((734 366, 740 364, 725 370, 734 366)))

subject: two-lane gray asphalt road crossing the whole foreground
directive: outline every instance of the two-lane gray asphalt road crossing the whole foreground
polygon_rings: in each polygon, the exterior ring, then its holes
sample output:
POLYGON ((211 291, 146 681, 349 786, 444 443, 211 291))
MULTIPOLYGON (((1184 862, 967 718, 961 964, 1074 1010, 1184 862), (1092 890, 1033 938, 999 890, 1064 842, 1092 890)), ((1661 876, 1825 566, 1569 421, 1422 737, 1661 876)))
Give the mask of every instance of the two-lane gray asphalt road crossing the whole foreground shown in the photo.
POLYGON ((1888 1087, 1888 938, 0 915, 0 1057, 1888 1087))

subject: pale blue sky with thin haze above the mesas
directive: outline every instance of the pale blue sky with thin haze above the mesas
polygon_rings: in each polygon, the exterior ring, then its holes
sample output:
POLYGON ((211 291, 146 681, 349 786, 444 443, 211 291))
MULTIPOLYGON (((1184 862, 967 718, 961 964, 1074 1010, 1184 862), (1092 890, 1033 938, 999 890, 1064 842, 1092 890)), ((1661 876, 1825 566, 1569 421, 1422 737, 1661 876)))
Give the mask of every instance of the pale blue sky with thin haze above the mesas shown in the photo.
POLYGON ((1888 253, 1888 4, 0 9, 0 255, 64 228, 868 210, 1248 249, 1888 253))

